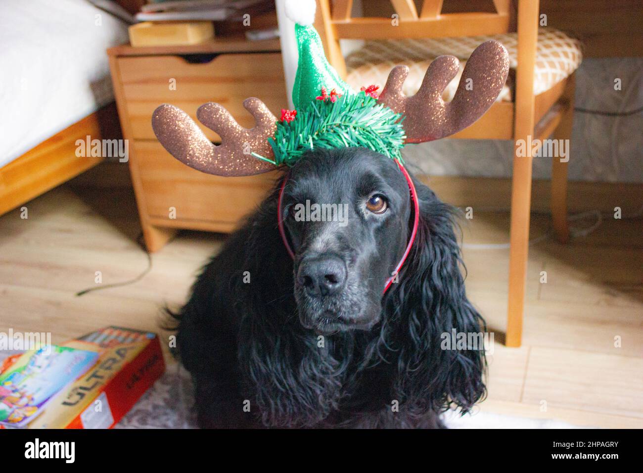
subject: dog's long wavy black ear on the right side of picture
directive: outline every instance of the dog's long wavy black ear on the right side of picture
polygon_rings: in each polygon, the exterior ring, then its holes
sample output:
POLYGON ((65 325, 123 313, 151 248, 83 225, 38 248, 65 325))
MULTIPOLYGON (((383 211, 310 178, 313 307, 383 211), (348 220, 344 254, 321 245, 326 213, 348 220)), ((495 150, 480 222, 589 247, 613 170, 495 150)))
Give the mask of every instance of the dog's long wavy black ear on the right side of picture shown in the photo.
POLYGON ((455 404, 468 411, 485 395, 484 320, 464 290, 454 209, 422 183, 415 185, 417 238, 385 301, 399 349, 395 391, 401 403, 404 399, 436 411, 455 404), (452 343, 463 336, 467 346, 452 343))

